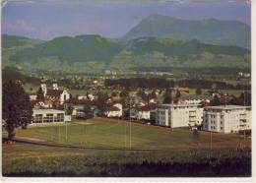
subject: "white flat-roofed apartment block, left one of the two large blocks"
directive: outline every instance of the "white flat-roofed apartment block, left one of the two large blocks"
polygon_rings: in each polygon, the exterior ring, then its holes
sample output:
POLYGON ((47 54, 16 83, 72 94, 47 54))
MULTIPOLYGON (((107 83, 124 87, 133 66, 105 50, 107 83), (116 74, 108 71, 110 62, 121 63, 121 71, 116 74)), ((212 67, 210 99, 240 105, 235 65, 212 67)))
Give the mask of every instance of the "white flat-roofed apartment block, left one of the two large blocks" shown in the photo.
POLYGON ((160 104, 156 110, 156 124, 171 128, 202 124, 203 108, 198 104, 160 104))

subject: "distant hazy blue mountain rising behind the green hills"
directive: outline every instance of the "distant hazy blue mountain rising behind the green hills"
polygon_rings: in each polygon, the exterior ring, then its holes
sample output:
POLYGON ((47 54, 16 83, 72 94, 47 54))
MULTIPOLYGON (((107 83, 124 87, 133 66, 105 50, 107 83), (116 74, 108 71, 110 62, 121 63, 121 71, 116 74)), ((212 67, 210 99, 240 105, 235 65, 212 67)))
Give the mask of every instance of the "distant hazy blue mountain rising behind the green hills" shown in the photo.
POLYGON ((123 39, 143 36, 198 39, 206 43, 238 45, 250 49, 250 27, 237 21, 215 19, 189 21, 161 15, 151 15, 142 20, 123 39))

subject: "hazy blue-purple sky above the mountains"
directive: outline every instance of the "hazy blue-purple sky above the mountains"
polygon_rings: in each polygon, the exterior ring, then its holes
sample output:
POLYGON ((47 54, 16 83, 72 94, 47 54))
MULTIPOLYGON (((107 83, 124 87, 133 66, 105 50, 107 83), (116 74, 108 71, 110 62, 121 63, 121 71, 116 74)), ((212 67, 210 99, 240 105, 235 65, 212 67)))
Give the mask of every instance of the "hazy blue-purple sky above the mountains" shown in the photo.
POLYGON ((7 0, 2 33, 44 40, 62 35, 121 37, 152 14, 250 25, 249 0, 7 0))

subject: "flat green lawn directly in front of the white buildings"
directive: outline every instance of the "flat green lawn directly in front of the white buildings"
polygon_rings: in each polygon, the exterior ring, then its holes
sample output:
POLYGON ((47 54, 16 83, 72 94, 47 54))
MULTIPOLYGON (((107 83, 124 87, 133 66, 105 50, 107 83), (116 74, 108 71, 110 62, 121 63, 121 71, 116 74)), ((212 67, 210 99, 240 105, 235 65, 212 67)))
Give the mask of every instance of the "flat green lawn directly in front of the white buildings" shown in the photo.
MULTIPOLYGON (((18 131, 22 133, 23 130, 18 131)), ((130 146, 130 125, 124 122, 106 122, 97 119, 87 121, 73 121, 67 126, 30 127, 32 134, 38 134, 47 141, 72 145, 87 145, 96 147, 130 146), (79 123, 79 124, 78 124, 79 123), (125 135, 126 134, 126 135, 125 135)), ((235 137, 215 134, 213 143, 229 141, 235 137)), ((149 126, 131 125, 132 148, 173 148, 191 144, 207 144, 210 142, 209 133, 199 132, 193 135, 189 130, 156 129, 149 126)))

